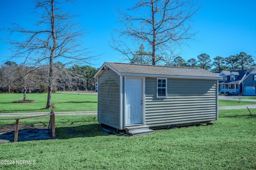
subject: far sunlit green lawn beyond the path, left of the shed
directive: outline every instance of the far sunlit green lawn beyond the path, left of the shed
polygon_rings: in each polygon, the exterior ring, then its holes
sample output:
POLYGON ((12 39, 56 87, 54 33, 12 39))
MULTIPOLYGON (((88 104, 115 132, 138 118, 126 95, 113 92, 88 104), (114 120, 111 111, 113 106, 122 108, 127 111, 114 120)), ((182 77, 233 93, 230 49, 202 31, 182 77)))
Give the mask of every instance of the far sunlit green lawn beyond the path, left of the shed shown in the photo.
MULTIPOLYGON (((44 109, 47 94, 27 94, 27 100, 37 100, 36 103, 13 103, 23 97, 23 94, 0 94, 0 113, 30 113, 50 112, 44 109)), ((92 111, 97 110, 97 95, 93 94, 52 94, 54 111, 92 111)))

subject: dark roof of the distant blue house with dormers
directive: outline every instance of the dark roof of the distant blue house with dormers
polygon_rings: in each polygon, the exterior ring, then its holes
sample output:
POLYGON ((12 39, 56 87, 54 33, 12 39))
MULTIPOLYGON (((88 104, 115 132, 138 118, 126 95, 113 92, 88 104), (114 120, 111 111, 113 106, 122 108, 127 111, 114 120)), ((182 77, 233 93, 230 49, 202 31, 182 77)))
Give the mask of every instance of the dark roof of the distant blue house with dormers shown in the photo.
POLYGON ((232 71, 222 71, 219 73, 221 75, 222 73, 226 74, 226 81, 219 80, 219 84, 240 84, 242 80, 246 77, 246 72, 249 72, 248 70, 232 70, 232 71), (237 76, 235 80, 230 80, 230 75, 234 74, 237 76))

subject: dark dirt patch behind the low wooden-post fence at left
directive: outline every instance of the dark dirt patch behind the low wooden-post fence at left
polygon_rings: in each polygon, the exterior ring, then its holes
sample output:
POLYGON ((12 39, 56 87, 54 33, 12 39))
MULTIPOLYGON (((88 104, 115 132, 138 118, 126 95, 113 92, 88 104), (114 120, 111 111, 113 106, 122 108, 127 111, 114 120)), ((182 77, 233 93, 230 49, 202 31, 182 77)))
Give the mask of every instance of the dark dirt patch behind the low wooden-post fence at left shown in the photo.
MULTIPOLYGON (((15 125, 0 128, 0 143, 14 142, 15 125)), ((50 129, 19 125, 18 142, 52 139, 50 129)))

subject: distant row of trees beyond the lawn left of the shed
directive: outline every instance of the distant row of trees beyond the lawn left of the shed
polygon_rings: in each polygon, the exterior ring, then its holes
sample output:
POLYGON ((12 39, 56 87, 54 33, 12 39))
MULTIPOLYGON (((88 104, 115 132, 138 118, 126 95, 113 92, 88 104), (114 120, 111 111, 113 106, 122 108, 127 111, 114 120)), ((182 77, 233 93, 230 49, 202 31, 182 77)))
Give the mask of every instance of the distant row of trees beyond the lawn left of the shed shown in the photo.
MULTIPOLYGON (((58 90, 95 90, 94 74, 98 69, 92 66, 72 65, 65 68, 61 62, 54 63, 53 92, 58 90)), ((49 69, 24 66, 7 61, 0 67, 0 90, 2 92, 44 93, 48 91, 49 69)))

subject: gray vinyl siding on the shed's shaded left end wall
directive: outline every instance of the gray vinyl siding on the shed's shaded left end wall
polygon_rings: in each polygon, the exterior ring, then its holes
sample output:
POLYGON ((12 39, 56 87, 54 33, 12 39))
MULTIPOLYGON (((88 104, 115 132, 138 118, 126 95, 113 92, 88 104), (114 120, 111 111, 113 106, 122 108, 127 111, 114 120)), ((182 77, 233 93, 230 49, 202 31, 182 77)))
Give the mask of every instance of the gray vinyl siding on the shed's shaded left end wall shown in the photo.
POLYGON ((120 128, 120 76, 106 70, 98 78, 98 122, 120 128))

